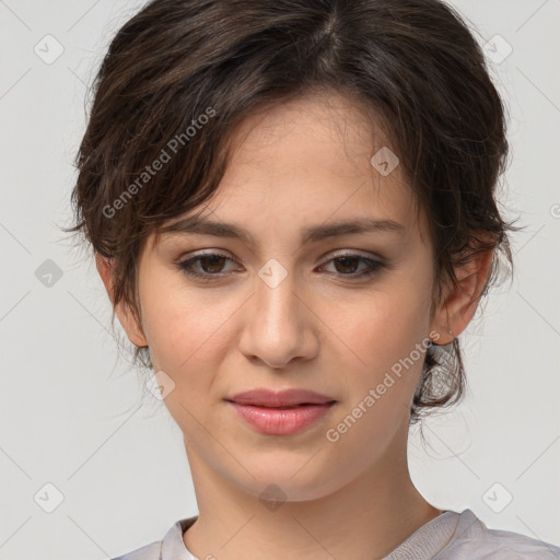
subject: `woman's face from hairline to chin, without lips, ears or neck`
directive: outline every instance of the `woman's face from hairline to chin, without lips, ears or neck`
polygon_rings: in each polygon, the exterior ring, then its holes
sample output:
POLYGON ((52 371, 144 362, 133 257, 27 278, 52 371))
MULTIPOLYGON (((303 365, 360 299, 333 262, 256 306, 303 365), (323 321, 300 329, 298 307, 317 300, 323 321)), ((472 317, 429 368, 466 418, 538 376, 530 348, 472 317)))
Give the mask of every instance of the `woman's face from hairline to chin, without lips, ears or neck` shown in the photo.
POLYGON ((288 500, 310 500, 402 457, 432 328, 432 247, 400 167, 385 176, 370 162, 381 132, 345 97, 276 106, 235 140, 198 210, 246 238, 151 236, 141 336, 173 386, 164 401, 191 467, 255 495, 273 482, 288 500), (395 224, 304 238, 366 220, 395 224), (266 433, 226 400, 256 388, 336 402, 304 429, 266 433))

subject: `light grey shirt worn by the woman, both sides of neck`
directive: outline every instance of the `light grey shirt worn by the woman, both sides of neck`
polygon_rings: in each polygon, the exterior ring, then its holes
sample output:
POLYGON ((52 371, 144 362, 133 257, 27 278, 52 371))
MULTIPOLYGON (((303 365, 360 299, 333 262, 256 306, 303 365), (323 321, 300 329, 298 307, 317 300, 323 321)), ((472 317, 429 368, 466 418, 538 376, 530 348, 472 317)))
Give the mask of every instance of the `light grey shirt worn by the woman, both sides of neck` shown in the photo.
MULTIPOLYGON (((113 560, 203 560, 183 541, 197 516, 179 520, 163 540, 113 560)), ((560 547, 509 530, 489 529, 470 510, 445 511, 419 527, 383 560, 559 560, 560 547)))

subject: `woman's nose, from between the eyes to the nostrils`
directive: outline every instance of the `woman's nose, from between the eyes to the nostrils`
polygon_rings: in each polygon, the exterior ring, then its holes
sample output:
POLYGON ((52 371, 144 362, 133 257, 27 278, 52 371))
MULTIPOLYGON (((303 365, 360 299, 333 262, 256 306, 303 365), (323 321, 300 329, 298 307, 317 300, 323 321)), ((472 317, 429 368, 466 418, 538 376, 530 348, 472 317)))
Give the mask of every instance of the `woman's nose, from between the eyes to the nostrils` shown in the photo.
POLYGON ((271 275, 264 267, 265 273, 255 278, 254 294, 244 306, 240 349, 252 362, 282 369, 316 355, 320 322, 312 311, 311 292, 276 262, 271 275))

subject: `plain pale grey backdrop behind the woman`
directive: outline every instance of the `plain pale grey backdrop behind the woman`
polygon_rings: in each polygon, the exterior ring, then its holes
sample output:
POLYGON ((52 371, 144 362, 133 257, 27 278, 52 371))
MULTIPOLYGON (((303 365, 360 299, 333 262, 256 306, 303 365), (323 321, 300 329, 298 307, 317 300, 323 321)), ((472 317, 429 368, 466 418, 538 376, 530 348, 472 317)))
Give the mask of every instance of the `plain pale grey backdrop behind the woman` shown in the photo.
MULTIPOLYGON (((71 224, 86 84, 140 5, 0 1, 1 560, 113 557, 197 513, 180 432, 158 401, 141 404, 91 255, 57 228, 71 224), (51 63, 34 51, 50 40, 56 54, 48 34, 63 47, 51 63)), ((412 430, 410 468, 438 508, 560 544, 560 2, 454 5, 493 45, 511 114, 502 201, 528 226, 512 238, 513 282, 460 337, 467 397, 427 423, 425 450, 412 430)))

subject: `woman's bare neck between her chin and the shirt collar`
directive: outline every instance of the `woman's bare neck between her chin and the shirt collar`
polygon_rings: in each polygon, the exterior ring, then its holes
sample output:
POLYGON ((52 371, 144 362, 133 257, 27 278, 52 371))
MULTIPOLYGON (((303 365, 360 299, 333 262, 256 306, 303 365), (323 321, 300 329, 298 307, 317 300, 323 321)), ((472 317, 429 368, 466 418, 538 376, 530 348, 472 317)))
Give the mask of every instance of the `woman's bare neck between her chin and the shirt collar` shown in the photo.
POLYGON ((199 515, 183 539, 200 559, 383 558, 442 513, 412 485, 406 438, 336 491, 276 506, 209 469, 188 446, 187 455, 199 515))

